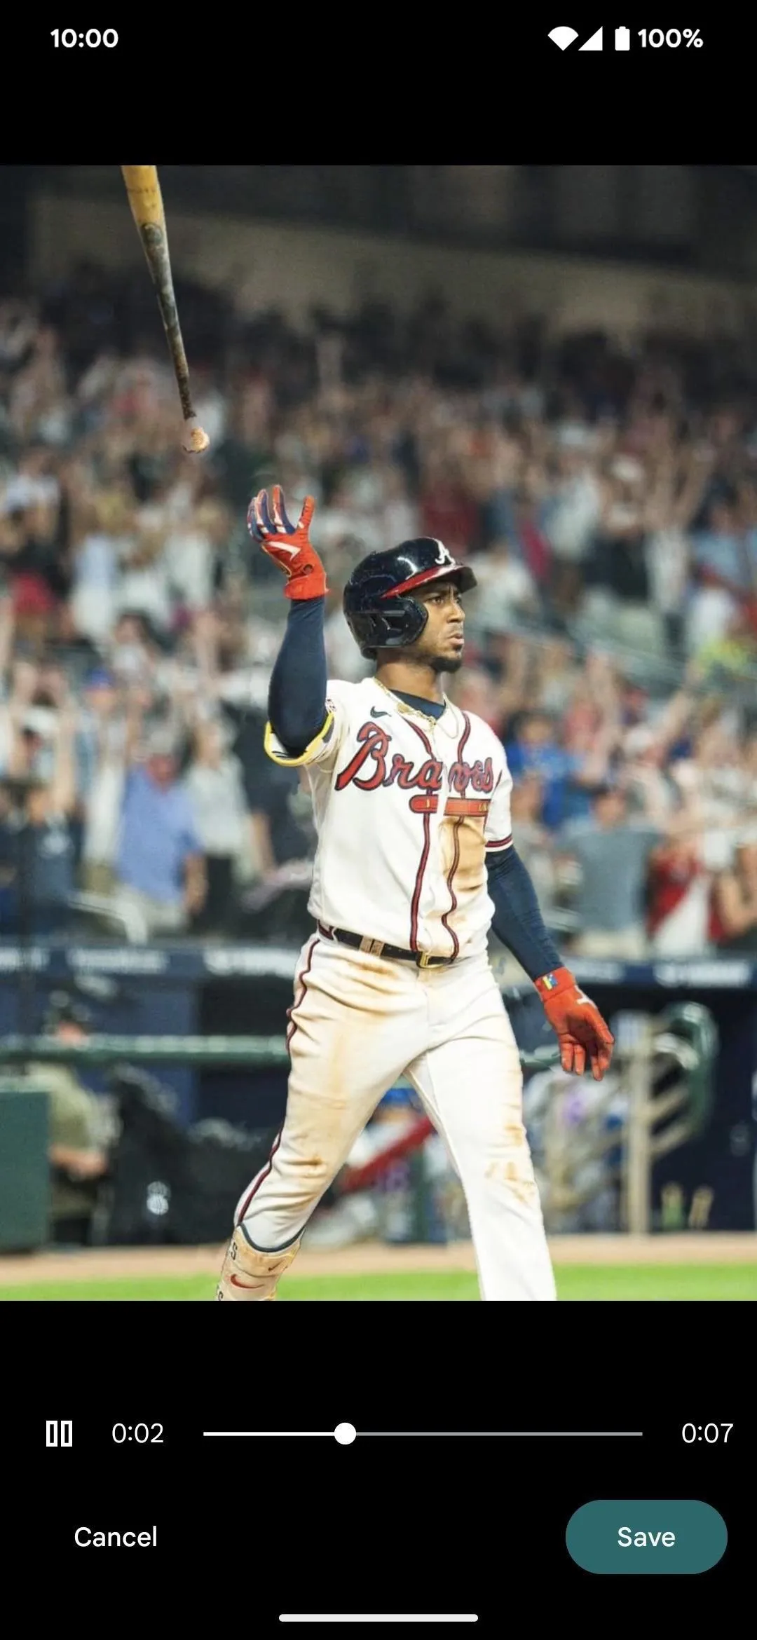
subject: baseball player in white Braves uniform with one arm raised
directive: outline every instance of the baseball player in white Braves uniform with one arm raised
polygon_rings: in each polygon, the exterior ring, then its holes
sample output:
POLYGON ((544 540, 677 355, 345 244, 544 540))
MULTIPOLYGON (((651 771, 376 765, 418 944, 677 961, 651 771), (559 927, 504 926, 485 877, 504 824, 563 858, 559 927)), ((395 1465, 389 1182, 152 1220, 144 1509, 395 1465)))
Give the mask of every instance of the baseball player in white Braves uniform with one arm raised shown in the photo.
POLYGON ((588 1061, 600 1081, 613 1036, 562 964, 518 858, 503 746, 442 690, 462 666, 462 595, 475 577, 429 538, 370 553, 344 589, 344 613, 375 672, 328 681, 313 512, 308 497, 290 523, 274 485, 247 513, 292 602, 265 749, 308 774, 316 927, 295 974, 283 1127, 238 1202, 216 1297, 275 1297, 313 1209, 406 1076, 460 1176, 482 1299, 554 1299, 488 928, 534 981, 565 1071, 588 1061))

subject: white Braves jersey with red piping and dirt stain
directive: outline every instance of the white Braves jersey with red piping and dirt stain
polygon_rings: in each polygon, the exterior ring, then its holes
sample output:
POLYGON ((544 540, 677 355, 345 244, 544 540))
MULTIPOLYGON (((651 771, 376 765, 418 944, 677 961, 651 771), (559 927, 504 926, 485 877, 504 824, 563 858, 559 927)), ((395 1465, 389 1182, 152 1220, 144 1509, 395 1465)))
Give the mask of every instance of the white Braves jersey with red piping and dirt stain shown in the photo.
POLYGON ((324 728, 300 758, 318 848, 310 913, 328 928, 433 956, 487 948, 487 854, 511 846, 510 774, 496 735, 449 700, 437 720, 374 677, 329 681, 324 728))

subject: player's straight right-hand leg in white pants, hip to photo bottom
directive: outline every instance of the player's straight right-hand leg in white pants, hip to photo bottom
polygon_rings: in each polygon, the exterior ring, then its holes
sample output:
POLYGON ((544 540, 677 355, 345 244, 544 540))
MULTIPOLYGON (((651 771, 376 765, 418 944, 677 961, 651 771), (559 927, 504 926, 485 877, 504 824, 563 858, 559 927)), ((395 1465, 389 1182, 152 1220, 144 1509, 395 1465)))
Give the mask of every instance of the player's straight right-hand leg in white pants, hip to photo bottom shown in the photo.
POLYGON ((460 1176, 483 1299, 554 1299, 555 1286, 523 1125, 523 1071, 488 964, 431 979, 436 1043, 406 1074, 460 1176), (447 1025, 444 1025, 444 1017, 447 1025))

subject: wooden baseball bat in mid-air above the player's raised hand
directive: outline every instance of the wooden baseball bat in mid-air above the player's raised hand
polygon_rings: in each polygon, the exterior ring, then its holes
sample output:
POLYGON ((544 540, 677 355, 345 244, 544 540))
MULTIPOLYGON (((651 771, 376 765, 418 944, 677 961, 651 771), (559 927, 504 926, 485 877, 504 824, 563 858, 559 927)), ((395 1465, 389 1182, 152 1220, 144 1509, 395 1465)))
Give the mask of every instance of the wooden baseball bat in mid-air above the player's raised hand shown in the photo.
POLYGON ((184 351, 182 330, 174 295, 174 279, 170 272, 169 236, 165 231, 165 212, 162 205, 157 166, 121 166, 131 215, 136 221, 143 249, 147 257, 152 284, 157 294, 157 305, 169 343, 170 362, 182 402, 185 425, 184 449, 190 456, 200 456, 208 448, 210 438, 200 426, 190 392, 188 364, 184 351))

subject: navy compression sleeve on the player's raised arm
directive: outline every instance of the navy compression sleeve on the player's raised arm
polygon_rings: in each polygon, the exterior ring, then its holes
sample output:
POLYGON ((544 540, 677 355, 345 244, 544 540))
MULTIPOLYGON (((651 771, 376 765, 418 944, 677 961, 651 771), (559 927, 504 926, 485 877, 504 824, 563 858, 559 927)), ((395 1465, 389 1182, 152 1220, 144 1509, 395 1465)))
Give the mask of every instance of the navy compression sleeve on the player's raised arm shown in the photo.
POLYGON ((293 599, 269 684, 269 722, 298 758, 326 722, 326 599, 293 599))

